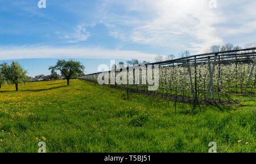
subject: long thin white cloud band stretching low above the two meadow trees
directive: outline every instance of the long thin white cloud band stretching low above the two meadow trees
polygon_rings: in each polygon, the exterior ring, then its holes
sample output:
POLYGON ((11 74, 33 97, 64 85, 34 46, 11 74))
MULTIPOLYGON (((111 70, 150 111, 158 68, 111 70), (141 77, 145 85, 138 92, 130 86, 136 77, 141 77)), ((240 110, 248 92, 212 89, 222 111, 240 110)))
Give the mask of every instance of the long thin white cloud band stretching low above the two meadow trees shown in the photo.
POLYGON ((19 46, 0 47, 1 60, 28 59, 28 58, 89 58, 89 59, 131 59, 154 61, 156 54, 147 54, 141 51, 110 50, 102 48, 51 46, 19 46))

